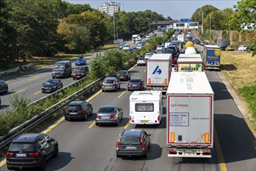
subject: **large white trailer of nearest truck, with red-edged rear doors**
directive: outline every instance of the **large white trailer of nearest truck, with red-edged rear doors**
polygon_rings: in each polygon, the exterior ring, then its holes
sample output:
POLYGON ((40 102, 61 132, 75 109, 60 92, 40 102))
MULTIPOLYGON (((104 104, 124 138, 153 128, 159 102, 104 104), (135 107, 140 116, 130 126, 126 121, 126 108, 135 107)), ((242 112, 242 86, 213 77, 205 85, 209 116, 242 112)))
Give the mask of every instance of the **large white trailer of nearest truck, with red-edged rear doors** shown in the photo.
POLYGON ((174 72, 167 90, 169 157, 211 158, 214 92, 205 72, 174 72))

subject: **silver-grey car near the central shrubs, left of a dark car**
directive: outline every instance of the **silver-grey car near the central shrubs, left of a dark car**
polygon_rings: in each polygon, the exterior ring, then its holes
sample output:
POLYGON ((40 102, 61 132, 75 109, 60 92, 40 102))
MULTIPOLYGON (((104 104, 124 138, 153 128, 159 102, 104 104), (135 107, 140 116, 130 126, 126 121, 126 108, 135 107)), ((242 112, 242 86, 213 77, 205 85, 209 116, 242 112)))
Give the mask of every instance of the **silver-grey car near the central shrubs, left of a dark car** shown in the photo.
POLYGON ((120 81, 116 77, 106 77, 102 82, 102 91, 116 91, 120 89, 120 81))

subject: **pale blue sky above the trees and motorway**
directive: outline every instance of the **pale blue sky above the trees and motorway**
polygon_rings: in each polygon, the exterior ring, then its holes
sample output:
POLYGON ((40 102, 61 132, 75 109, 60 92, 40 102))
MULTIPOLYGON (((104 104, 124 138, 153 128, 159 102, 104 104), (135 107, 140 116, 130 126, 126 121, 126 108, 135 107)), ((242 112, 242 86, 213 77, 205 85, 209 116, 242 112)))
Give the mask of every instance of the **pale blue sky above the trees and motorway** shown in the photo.
MULTIPOLYGON (((64 0, 72 4, 89 4, 93 9, 98 9, 104 2, 111 0, 64 0)), ((170 16, 172 19, 191 19, 196 9, 204 5, 212 5, 217 9, 233 8, 237 0, 113 0, 121 3, 121 10, 125 12, 145 11, 147 9, 170 16)))

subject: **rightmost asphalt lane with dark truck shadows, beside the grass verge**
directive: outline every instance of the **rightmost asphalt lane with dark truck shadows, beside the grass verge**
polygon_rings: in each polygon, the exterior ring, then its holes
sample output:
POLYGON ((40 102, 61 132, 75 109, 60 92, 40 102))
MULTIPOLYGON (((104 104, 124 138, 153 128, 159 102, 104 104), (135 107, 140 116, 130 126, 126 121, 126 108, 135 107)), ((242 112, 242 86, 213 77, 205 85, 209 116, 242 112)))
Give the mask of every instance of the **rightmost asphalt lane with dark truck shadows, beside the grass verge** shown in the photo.
POLYGON ((215 92, 215 126, 228 170, 255 170, 255 138, 216 72, 206 72, 215 92))

